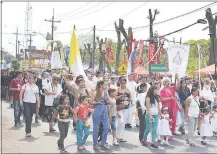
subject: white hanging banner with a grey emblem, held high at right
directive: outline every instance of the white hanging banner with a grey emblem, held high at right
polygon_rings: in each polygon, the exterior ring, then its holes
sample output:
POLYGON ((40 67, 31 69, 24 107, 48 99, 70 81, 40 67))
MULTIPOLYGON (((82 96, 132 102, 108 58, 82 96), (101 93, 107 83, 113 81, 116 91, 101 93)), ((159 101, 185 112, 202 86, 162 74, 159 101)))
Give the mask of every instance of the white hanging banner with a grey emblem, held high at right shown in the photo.
POLYGON ((175 73, 179 74, 179 77, 186 76, 186 69, 188 65, 190 46, 181 44, 171 44, 168 47, 168 61, 169 72, 175 76, 175 73))

